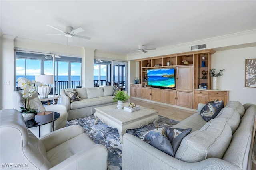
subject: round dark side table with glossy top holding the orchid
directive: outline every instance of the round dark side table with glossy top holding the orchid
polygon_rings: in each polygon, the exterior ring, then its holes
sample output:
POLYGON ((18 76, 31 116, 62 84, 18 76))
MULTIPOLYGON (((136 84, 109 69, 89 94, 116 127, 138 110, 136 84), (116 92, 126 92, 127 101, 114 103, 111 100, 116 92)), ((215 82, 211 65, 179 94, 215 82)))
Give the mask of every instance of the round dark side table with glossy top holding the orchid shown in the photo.
POLYGON ((60 117, 60 113, 52 112, 52 111, 45 111, 45 112, 38 112, 34 119, 29 121, 25 121, 26 127, 39 127, 39 137, 41 136, 41 126, 47 123, 52 122, 52 131, 54 131, 54 121, 60 117))

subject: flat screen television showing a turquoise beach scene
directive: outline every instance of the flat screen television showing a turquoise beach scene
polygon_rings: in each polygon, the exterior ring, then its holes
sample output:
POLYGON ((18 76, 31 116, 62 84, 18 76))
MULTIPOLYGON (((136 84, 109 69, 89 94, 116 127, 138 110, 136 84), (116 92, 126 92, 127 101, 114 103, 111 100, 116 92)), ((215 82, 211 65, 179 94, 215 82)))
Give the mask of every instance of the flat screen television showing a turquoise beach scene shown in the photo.
POLYGON ((148 69, 148 85, 155 87, 175 87, 174 68, 148 69))

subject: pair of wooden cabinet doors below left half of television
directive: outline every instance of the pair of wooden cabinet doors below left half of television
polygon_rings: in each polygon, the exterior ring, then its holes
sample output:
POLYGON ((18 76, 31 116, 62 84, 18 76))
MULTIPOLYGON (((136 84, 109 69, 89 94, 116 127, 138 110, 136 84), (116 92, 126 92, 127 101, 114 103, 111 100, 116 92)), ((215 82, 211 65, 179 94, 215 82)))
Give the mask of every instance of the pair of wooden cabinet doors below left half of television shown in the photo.
POLYGON ((163 102, 163 90, 142 87, 142 99, 163 102))

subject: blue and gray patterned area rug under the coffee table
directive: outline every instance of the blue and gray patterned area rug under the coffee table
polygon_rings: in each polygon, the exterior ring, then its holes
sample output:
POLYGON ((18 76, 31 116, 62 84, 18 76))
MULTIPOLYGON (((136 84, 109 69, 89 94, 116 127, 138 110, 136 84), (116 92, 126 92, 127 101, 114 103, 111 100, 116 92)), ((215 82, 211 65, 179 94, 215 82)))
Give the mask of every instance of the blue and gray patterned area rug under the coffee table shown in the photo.
MULTIPOLYGON (((102 144, 108 149, 108 170, 121 170, 122 169, 122 144, 119 142, 119 134, 116 128, 108 127, 108 125, 102 123, 94 125, 94 116, 88 116, 79 119, 73 119, 67 122, 67 126, 80 125, 84 128, 84 132, 94 141, 96 144, 102 144)), ((163 116, 159 116, 157 121, 159 127, 172 127, 179 123, 173 119, 168 119, 163 116)), ((144 127, 137 129, 126 130, 126 133, 130 133, 138 138, 150 131, 156 129, 153 123, 149 123, 144 127)))

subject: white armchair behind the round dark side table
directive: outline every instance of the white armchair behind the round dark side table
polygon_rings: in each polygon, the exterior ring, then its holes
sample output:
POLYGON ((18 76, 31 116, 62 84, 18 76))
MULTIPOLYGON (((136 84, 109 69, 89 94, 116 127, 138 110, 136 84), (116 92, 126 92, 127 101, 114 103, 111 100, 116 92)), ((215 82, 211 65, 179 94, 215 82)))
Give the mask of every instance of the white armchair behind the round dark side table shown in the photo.
MULTIPOLYGON (((12 92, 11 97, 12 97, 13 108, 20 111, 21 110, 20 107, 25 106, 25 101, 22 97, 21 91, 12 92)), ((32 95, 32 97, 29 98, 29 104, 31 109, 37 109, 39 111, 55 111, 60 113, 60 118, 54 121, 54 130, 58 130, 66 126, 67 118, 68 118, 68 112, 67 112, 66 106, 64 105, 43 106, 38 98, 37 92, 34 95, 32 95)), ((46 125, 43 125, 43 126, 46 126, 46 125)))

